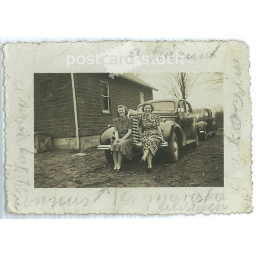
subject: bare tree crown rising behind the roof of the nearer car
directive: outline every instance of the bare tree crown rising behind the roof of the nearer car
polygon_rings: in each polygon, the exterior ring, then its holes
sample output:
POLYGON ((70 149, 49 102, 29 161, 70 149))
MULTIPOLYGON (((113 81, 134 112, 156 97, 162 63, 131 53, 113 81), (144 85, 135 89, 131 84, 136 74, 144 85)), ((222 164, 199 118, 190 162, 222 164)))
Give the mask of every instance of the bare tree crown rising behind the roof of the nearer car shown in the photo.
POLYGON ((168 78, 168 85, 165 86, 169 93, 176 98, 185 99, 196 81, 196 76, 191 73, 173 73, 168 78))

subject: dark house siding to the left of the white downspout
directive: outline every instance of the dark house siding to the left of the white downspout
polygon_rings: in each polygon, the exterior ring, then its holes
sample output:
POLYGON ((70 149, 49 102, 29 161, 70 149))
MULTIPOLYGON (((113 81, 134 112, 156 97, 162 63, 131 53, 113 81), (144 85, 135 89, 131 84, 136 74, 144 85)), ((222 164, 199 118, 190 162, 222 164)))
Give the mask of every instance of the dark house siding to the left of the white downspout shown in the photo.
POLYGON ((34 74, 34 129, 52 137, 75 136, 71 74, 34 74), (40 81, 53 79, 54 98, 41 99, 40 81))

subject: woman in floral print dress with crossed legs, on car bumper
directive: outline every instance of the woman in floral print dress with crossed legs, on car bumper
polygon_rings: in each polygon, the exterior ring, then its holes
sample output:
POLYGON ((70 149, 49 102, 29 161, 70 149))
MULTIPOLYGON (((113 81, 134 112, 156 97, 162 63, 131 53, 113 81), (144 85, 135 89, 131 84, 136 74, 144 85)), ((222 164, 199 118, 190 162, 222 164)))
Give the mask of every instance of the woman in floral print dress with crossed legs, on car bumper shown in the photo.
POLYGON ((145 102, 142 107, 144 114, 138 116, 138 131, 141 136, 143 150, 141 161, 144 162, 147 159, 148 173, 152 172, 152 158, 158 147, 162 142, 165 142, 160 129, 160 117, 151 113, 153 110, 153 105, 145 102))

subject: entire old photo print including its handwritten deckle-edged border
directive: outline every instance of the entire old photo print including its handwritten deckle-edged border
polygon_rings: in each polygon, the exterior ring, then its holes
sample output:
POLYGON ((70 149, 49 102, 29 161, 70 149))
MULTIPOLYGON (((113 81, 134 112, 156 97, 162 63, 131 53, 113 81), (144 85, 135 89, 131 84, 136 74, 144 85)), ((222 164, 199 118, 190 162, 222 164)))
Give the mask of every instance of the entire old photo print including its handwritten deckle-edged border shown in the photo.
POLYGON ((7 210, 252 211, 239 41, 4 46, 7 210))

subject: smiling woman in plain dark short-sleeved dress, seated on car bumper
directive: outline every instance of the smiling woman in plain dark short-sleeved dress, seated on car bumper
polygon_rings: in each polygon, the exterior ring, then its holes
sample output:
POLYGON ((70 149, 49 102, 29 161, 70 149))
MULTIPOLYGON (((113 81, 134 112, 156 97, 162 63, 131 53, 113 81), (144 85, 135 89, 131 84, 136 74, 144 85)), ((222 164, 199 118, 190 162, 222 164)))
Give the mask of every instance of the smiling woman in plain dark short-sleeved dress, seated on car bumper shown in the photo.
POLYGON ((115 141, 112 144, 111 151, 113 152, 114 159, 114 171, 120 172, 122 166, 123 155, 132 160, 132 148, 133 148, 133 118, 127 117, 128 110, 125 106, 119 105, 117 107, 116 119, 113 119, 113 125, 115 127, 115 141))

